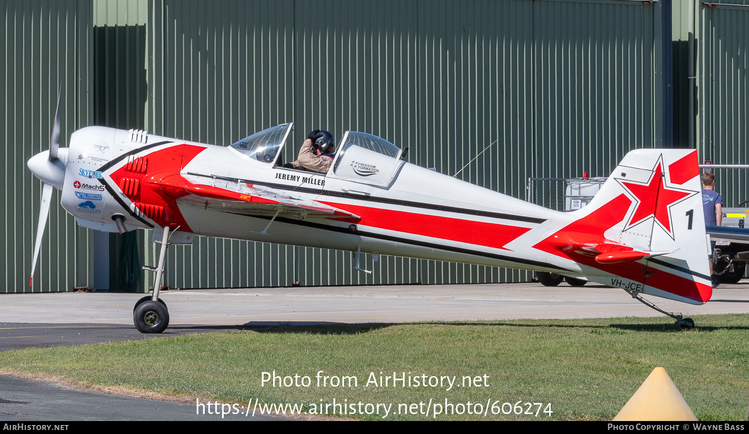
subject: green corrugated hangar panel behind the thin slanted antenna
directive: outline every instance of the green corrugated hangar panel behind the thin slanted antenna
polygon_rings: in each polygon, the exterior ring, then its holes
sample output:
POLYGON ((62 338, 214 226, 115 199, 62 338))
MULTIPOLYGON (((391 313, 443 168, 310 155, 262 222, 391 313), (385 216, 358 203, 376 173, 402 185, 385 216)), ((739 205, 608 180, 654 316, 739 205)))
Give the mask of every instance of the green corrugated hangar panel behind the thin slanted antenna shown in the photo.
MULTIPOLYGON (((443 174, 460 171, 458 179, 525 198, 535 157, 533 2, 470 5, 419 1, 419 139, 411 162, 443 174)), ((440 261, 419 265, 425 284, 520 281, 533 274, 440 261)))

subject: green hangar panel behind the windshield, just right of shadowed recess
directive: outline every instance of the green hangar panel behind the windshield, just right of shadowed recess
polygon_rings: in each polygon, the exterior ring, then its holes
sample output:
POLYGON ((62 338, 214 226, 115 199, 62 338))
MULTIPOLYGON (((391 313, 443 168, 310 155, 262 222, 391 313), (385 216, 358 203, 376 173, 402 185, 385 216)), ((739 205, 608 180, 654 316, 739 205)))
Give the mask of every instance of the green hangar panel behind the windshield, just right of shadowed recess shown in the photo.
MULTIPOLYGON (((148 129, 228 145, 294 119, 293 1, 154 1, 148 129)), ((299 127, 297 126, 297 130, 299 127)), ((145 263, 158 252, 145 236, 145 263)), ((267 287, 297 280, 299 248, 198 238, 169 252, 172 287, 267 287)), ((153 276, 146 276, 146 282, 153 276)))

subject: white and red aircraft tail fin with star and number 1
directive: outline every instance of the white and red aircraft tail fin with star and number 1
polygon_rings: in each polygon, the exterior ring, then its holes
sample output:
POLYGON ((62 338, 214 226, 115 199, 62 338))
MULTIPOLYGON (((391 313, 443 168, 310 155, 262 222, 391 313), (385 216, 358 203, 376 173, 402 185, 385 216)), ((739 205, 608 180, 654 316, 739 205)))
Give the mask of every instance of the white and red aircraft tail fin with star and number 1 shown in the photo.
POLYGON ((590 281, 702 304, 712 285, 701 191, 697 150, 633 150, 536 248, 574 260, 590 281))

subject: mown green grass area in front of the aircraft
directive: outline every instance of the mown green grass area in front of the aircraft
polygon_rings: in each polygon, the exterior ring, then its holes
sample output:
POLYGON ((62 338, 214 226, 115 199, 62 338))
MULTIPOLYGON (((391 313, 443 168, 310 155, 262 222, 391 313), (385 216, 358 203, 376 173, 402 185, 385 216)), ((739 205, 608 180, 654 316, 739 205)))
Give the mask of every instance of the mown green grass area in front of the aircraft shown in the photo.
MULTIPOLYGON (((0 369, 243 403, 551 403, 552 419, 610 419, 654 367, 665 367, 700 420, 746 420, 749 315, 518 320, 268 328, 0 352, 0 369), (261 372, 312 377, 312 387, 261 387, 261 372), (318 388, 315 374, 357 376, 318 388), (488 387, 364 387, 370 372, 483 376, 488 387), (254 401, 253 401, 254 403, 254 401)), ((534 407, 535 410, 535 407, 534 407)), ((377 418, 359 415, 357 418, 377 418)), ((389 415, 388 419, 419 419, 389 415)), ((431 418, 431 415, 430 415, 431 418)), ((475 415, 440 416, 474 419, 475 415)), ((494 419, 536 419, 491 415, 494 419)), ((539 414, 539 418, 548 415, 539 414)))

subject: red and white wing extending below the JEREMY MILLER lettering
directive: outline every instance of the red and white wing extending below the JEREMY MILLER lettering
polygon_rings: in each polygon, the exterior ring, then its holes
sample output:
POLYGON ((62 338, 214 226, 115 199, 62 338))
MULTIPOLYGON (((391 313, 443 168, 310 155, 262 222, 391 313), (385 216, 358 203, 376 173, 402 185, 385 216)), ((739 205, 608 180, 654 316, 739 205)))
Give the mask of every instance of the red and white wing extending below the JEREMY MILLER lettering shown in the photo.
POLYGON ((278 216, 288 218, 329 218, 359 221, 360 217, 348 211, 323 204, 301 195, 288 194, 282 190, 248 183, 231 183, 215 180, 213 186, 198 183, 197 179, 182 177, 163 180, 164 192, 175 198, 178 204, 210 208, 227 213, 246 216, 278 216))

